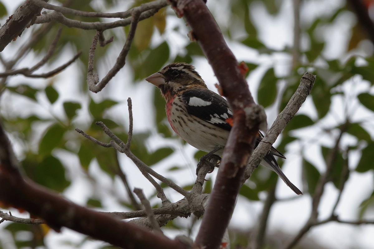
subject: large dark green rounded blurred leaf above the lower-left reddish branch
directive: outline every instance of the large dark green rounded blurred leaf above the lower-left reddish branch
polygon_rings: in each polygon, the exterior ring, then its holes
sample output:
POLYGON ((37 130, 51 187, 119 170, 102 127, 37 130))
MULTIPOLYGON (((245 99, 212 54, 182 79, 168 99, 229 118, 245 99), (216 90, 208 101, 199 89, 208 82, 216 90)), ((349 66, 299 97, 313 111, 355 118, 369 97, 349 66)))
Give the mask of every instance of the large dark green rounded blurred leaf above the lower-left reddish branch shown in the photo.
POLYGON ((64 191, 70 181, 65 178, 65 168, 54 156, 47 156, 34 169, 33 180, 49 189, 64 191))

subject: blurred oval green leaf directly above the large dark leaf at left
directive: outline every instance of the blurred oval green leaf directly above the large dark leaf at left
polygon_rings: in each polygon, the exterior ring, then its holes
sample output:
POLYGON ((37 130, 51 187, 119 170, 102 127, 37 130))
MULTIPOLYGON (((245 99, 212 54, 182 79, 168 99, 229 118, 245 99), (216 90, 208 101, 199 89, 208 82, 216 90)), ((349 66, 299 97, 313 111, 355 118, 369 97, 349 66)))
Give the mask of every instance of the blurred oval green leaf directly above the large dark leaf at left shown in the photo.
POLYGON ((39 154, 47 155, 62 141, 65 129, 59 124, 51 125, 40 140, 39 154))

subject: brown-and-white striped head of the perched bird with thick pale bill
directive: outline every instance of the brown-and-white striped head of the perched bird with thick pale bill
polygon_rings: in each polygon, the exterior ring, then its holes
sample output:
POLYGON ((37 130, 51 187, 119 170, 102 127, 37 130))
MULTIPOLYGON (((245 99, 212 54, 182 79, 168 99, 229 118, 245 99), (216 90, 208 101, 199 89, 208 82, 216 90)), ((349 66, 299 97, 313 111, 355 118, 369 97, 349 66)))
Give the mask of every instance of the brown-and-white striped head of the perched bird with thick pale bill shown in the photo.
POLYGON ((183 62, 167 65, 160 72, 150 75, 145 80, 159 87, 164 96, 167 93, 174 95, 190 87, 207 88, 195 68, 183 62))

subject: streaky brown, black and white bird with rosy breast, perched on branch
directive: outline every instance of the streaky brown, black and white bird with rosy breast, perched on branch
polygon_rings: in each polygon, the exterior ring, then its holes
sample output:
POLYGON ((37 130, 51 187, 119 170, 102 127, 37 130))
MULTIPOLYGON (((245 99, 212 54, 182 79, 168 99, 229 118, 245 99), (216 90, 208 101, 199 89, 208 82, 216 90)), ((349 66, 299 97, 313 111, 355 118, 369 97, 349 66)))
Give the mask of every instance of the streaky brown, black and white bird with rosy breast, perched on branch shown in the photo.
MULTIPOLYGON (((214 154, 222 155, 233 113, 223 97, 206 87, 193 66, 172 63, 145 80, 160 88, 166 100, 166 115, 175 133, 199 150, 216 150, 214 154)), ((259 131, 256 146, 262 138, 259 131)), ((272 147, 261 165, 275 171, 295 193, 302 194, 283 174, 274 155, 285 158, 272 147)))

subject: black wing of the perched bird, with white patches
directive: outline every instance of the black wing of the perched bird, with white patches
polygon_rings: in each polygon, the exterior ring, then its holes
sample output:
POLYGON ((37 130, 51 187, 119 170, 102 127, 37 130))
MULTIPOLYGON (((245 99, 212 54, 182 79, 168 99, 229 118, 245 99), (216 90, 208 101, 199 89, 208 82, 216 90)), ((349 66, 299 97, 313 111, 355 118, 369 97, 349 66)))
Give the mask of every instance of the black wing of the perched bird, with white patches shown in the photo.
POLYGON ((188 113, 230 131, 233 113, 227 101, 208 89, 191 89, 182 93, 188 113))

